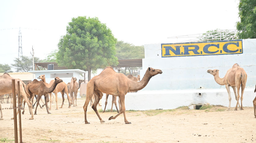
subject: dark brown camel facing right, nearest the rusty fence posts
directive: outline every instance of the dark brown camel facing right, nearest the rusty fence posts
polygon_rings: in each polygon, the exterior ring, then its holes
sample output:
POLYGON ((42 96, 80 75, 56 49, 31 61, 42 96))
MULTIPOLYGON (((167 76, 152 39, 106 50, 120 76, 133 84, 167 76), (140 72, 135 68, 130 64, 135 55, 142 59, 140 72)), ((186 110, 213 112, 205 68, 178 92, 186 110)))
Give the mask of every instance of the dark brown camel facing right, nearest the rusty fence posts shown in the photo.
MULTIPOLYGON (((47 93, 51 93, 54 91, 54 89, 56 88, 57 84, 63 82, 60 79, 55 79, 54 83, 52 84, 52 86, 50 88, 48 88, 42 81, 38 81, 38 80, 33 80, 31 83, 29 83, 27 85, 26 90, 29 92, 30 98, 33 96, 33 94, 38 95, 37 98, 37 104, 36 104, 36 110, 39 104, 39 100, 41 99, 42 96, 44 96, 44 100, 45 100, 45 104, 46 104, 46 110, 48 114, 51 114, 48 111, 48 105, 47 105, 47 93)), ((35 110, 35 115, 36 114, 36 110, 35 110)))

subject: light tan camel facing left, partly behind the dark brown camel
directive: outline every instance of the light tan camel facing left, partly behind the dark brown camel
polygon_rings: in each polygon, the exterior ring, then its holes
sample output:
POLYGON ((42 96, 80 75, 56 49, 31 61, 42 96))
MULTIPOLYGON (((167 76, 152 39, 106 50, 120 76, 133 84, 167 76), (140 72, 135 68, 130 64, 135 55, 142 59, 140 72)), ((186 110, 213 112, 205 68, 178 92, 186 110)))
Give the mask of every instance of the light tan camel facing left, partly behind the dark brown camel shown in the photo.
MULTIPOLYGON (((41 75, 41 76, 39 76, 39 79, 41 79, 42 81, 43 81, 43 83, 44 84, 46 84, 46 82, 45 82, 45 75, 41 75)), ((60 79, 59 77, 55 77, 55 79, 60 79)), ((49 84, 46 84, 48 87, 50 87, 53 83, 54 83, 54 81, 55 80, 51 80, 50 81, 50 83, 49 84)), ((57 84, 57 86, 56 86, 56 88, 54 89, 54 91, 53 91, 53 93, 55 94, 55 101, 56 101, 56 110, 58 110, 59 108, 58 108, 58 101, 57 101, 57 94, 58 94, 58 92, 61 92, 61 95, 62 95, 62 105, 61 105, 61 107, 60 108, 62 108, 62 106, 63 106, 63 103, 64 103, 64 92, 67 94, 67 95, 69 95, 69 92, 68 92, 68 88, 67 88, 67 85, 65 84, 65 82, 61 82, 61 83, 59 83, 59 84, 57 84)), ((52 95, 51 95, 51 93, 50 93, 50 110, 51 110, 51 108, 52 108, 52 95)), ((70 106, 71 106, 71 103, 70 103, 70 98, 69 98, 69 96, 67 96, 67 99, 68 99, 68 101, 69 101, 69 107, 68 108, 70 108, 70 106)))

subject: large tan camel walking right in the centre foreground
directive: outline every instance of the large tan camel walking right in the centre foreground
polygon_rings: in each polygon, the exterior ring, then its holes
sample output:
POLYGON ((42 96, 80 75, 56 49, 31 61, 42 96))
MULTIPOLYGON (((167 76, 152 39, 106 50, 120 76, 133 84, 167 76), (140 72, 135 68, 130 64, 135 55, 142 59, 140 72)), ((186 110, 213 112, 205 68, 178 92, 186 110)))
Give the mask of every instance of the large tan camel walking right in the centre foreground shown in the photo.
POLYGON ((143 79, 139 82, 135 82, 128 79, 128 77, 126 77, 124 74, 115 72, 112 67, 106 67, 103 71, 101 71, 101 73, 98 76, 94 76, 87 84, 86 100, 83 105, 85 124, 90 124, 87 121, 86 112, 88 104, 93 94, 95 95, 95 101, 92 105, 92 109, 97 114, 100 122, 105 122, 101 119, 97 111, 97 104, 99 103, 99 100, 102 98, 103 93, 118 96, 121 102, 120 112, 115 117, 111 116, 109 120, 115 119, 117 116, 123 113, 125 124, 131 124, 131 122, 128 122, 126 119, 124 96, 129 91, 141 90, 148 84, 152 76, 162 73, 163 72, 160 69, 154 69, 152 67, 149 67, 146 70, 143 79))

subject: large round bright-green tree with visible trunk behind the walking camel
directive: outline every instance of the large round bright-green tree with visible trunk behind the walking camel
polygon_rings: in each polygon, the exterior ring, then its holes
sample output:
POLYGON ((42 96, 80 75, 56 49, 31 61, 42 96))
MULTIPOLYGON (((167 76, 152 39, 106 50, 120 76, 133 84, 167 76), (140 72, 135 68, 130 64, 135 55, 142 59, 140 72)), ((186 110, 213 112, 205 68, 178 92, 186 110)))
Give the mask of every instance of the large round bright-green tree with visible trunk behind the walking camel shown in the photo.
POLYGON ((90 80, 92 70, 117 65, 117 40, 106 24, 101 23, 97 17, 72 18, 66 32, 58 43, 59 51, 56 54, 56 61, 60 66, 88 71, 90 80))

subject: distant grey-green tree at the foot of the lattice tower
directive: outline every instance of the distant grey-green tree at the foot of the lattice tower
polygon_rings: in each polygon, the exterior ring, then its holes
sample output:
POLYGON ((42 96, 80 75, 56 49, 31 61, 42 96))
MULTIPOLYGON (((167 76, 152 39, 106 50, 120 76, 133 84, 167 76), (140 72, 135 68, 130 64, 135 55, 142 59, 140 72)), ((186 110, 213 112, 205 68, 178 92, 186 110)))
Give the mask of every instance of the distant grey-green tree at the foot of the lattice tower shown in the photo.
MULTIPOLYGON (((42 62, 38 57, 34 57, 34 63, 42 62)), ((28 72, 33 70, 33 58, 21 56, 14 59, 14 64, 11 64, 16 72, 28 72)))

